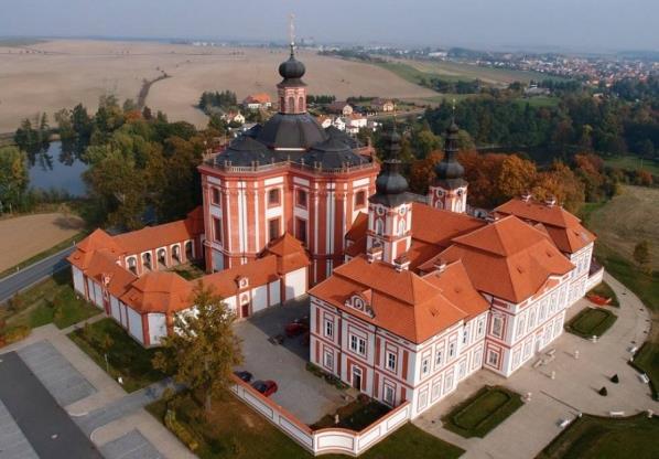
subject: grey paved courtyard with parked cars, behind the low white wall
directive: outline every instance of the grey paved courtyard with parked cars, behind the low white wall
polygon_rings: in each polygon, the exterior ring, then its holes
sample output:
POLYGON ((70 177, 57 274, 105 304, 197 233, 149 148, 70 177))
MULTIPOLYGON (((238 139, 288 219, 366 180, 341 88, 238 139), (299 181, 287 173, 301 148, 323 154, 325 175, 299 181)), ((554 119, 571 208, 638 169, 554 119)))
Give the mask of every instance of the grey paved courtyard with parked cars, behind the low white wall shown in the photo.
POLYGON ((269 308, 239 322, 236 332, 242 339, 245 363, 241 369, 252 373, 255 380, 273 380, 279 389, 270 398, 301 421, 313 424, 350 398, 306 371, 309 344, 303 343, 303 335, 285 338, 281 344, 269 340, 285 335, 285 324, 304 316, 309 316, 307 297, 269 308))

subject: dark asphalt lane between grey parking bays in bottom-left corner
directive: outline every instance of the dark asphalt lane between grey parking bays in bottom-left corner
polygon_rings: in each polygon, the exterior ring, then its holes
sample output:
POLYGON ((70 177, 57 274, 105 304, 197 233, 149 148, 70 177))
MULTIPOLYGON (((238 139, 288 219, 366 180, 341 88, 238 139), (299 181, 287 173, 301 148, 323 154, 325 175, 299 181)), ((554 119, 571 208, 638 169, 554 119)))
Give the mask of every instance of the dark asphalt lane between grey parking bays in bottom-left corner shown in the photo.
POLYGON ((102 458, 15 352, 0 360, 0 399, 40 457, 102 458))

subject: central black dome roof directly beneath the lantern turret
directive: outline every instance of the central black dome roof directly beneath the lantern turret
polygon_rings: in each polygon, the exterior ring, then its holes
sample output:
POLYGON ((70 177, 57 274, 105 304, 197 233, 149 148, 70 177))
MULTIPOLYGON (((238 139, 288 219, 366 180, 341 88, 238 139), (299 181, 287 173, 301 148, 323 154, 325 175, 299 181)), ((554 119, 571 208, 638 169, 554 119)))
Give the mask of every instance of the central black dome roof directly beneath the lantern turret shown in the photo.
POLYGON ((257 135, 270 148, 309 149, 327 139, 325 130, 309 114, 274 114, 257 135))

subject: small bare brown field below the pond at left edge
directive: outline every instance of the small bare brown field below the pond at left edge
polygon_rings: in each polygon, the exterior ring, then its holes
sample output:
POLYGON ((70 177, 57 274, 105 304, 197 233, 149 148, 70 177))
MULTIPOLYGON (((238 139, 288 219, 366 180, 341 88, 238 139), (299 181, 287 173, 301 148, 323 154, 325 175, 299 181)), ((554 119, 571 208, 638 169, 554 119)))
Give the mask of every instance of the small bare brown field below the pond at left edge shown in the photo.
POLYGON ((80 218, 61 213, 0 220, 0 271, 74 236, 82 227, 80 218))

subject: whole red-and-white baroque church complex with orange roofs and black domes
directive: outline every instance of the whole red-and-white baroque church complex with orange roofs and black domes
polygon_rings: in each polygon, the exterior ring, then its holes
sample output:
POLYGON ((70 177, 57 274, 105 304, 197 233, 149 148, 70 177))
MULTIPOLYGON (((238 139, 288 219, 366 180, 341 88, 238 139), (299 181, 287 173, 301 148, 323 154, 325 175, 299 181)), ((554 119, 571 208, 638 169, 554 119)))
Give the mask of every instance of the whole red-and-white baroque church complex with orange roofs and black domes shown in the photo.
POLYGON ((144 346, 194 307, 199 280, 238 318, 309 293, 310 360, 418 416, 469 374, 508 376, 562 333, 565 309, 602 280, 595 237, 557 202, 467 213, 457 126, 428 195, 408 191, 401 138, 368 147, 306 111, 304 65, 279 67, 279 111, 199 166, 203 205, 182 221, 110 236, 68 260, 76 291, 144 346))

